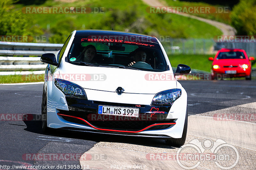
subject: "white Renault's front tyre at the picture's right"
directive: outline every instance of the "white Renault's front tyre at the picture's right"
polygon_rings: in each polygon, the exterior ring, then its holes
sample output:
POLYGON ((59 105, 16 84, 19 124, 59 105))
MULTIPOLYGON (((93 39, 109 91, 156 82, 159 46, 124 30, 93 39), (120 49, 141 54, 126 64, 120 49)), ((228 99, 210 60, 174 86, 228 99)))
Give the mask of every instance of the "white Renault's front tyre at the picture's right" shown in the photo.
POLYGON ((182 137, 181 138, 172 138, 172 139, 166 139, 165 143, 171 146, 182 146, 185 144, 186 141, 186 136, 187 136, 187 129, 188 129, 188 111, 186 113, 185 117, 185 123, 184 123, 184 128, 182 132, 182 137))

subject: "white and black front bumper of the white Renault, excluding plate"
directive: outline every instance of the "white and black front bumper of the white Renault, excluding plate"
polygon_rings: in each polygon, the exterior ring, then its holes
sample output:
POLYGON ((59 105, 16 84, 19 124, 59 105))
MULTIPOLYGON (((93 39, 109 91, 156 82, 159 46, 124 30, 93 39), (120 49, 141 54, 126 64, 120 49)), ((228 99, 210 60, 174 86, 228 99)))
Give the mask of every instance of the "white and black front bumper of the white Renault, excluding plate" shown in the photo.
POLYGON ((152 106, 77 99, 64 96, 59 89, 48 88, 47 126, 116 135, 181 138, 187 108, 187 93, 181 89, 182 95, 172 106, 152 106), (99 117, 99 105, 139 108, 140 116, 99 117))

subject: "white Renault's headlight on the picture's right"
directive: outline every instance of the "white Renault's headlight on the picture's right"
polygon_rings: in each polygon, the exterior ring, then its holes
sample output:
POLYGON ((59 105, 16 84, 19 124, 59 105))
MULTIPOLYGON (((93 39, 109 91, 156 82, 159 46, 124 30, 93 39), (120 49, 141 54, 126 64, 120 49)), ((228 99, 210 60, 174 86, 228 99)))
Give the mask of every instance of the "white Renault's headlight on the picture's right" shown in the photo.
POLYGON ((181 95, 181 89, 165 90, 157 93, 151 105, 172 105, 181 95))

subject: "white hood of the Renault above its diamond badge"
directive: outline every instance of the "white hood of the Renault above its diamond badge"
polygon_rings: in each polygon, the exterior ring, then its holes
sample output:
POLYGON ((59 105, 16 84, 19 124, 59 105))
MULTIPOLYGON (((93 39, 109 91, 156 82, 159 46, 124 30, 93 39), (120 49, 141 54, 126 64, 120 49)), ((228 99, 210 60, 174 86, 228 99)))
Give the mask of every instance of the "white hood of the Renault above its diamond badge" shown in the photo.
POLYGON ((177 88, 172 70, 151 72, 111 67, 77 66, 65 63, 59 70, 60 79, 71 81, 84 89, 124 93, 156 94, 177 88), (84 77, 85 76, 85 77, 84 77))

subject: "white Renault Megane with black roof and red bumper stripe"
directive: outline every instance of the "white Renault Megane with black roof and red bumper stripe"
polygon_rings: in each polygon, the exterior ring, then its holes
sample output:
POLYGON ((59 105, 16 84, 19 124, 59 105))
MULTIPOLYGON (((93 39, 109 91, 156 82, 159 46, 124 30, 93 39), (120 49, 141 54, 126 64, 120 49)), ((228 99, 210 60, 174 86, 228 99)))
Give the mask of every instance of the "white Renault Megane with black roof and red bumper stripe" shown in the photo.
POLYGON ((165 139, 184 145, 187 93, 156 37, 130 32, 75 30, 48 63, 43 131, 51 128, 165 139))

